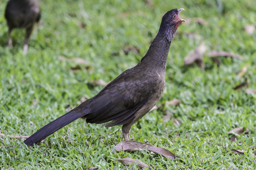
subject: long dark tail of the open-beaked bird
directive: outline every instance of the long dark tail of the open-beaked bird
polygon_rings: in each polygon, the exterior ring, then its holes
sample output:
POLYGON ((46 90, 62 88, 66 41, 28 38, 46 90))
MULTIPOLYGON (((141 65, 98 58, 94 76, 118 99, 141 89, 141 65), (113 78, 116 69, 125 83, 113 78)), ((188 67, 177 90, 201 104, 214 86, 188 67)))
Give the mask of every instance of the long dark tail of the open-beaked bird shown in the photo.
POLYGON ((45 125, 41 129, 39 129, 36 133, 31 135, 27 138, 24 143, 28 146, 33 145, 34 143, 38 143, 41 140, 45 139, 47 136, 51 135, 52 133, 56 132, 60 128, 66 126, 67 124, 71 123, 72 121, 83 117, 84 113, 75 112, 73 110, 67 112, 63 116, 53 120, 51 123, 45 125))

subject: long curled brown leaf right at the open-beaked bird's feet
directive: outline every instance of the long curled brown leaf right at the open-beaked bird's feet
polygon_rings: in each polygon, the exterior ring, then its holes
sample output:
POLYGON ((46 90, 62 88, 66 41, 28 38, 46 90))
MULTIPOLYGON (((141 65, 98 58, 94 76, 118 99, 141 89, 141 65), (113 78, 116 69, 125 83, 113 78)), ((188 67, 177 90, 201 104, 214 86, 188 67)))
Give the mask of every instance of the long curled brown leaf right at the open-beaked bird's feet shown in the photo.
POLYGON ((148 150, 150 152, 154 152, 155 154, 160 154, 166 158, 171 158, 172 160, 180 159, 179 156, 176 156, 175 154, 173 154, 172 152, 170 152, 167 149, 159 148, 154 145, 141 143, 138 141, 126 140, 126 141, 118 143, 115 146, 115 149, 117 151, 123 150, 123 151, 127 151, 127 152, 135 152, 136 149, 146 149, 146 148, 148 148, 148 150))

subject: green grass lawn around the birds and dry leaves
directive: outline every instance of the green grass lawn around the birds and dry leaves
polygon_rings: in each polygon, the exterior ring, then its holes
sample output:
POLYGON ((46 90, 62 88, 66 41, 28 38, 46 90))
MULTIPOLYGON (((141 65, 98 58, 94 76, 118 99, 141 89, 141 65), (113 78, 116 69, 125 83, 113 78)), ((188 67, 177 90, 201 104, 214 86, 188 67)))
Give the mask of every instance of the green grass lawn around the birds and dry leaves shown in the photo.
MULTIPOLYGON (((180 18, 202 18, 208 24, 184 23, 171 44, 166 66, 166 88, 159 101, 178 98, 177 107, 165 106, 140 119, 131 130, 134 140, 156 141, 180 160, 173 161, 148 151, 117 152, 115 144, 123 140, 118 128, 104 124, 86 124, 78 119, 46 138, 45 143, 27 147, 23 140, 0 138, 1 169, 131 169, 116 158, 140 159, 153 169, 255 169, 256 95, 233 87, 249 81, 256 89, 256 31, 248 35, 246 25, 256 26, 255 0, 222 1, 222 10, 214 0, 167 1, 40 1, 42 18, 32 33, 28 55, 22 55, 25 31, 13 31, 14 48, 5 44, 7 25, 4 18, 7 0, 0 1, 0 131, 6 135, 31 135, 66 110, 90 98, 103 86, 90 81, 110 82, 135 66, 147 52, 157 34, 161 17, 170 9, 184 8, 180 18), (80 24, 83 23, 85 28, 80 24), (201 38, 187 36, 187 33, 201 38), (228 51, 244 57, 219 58, 220 67, 204 55, 205 69, 183 66, 184 57, 205 41, 207 51, 228 51), (122 48, 135 46, 140 54, 122 48), (113 55, 115 54, 115 55, 113 55), (72 70, 83 58, 87 65, 72 70), (242 78, 238 72, 247 66, 242 78), (182 125, 162 117, 171 112, 182 125), (228 131, 249 128, 230 142, 228 131), (234 154, 231 149, 245 150, 234 154)), ((134 167, 134 169, 137 169, 134 167)))

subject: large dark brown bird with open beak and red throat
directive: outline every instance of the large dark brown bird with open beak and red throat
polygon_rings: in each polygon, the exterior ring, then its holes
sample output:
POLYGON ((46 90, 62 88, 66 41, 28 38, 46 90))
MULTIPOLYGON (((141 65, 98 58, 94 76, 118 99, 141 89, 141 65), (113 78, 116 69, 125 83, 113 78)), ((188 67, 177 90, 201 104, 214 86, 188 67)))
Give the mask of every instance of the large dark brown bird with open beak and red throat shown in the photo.
POLYGON ((161 98, 165 86, 165 66, 169 48, 184 10, 172 9, 162 18, 160 29, 141 62, 119 75, 97 95, 57 118, 27 138, 24 143, 40 142, 63 126, 82 117, 87 123, 107 123, 106 127, 123 125, 124 140, 130 140, 132 125, 144 116, 161 98))

